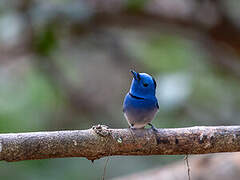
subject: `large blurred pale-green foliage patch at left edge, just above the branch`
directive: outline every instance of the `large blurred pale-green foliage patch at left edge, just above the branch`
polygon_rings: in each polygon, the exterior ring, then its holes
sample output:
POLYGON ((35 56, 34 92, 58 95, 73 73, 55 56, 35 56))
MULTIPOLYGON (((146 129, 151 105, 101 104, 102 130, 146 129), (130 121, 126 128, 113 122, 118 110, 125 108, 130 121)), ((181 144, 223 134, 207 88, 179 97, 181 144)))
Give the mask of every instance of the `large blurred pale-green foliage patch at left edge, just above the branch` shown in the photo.
POLYGON ((41 130, 51 114, 63 106, 61 96, 37 71, 25 71, 24 76, 0 84, 1 132, 41 130))

